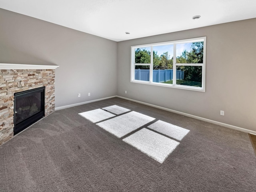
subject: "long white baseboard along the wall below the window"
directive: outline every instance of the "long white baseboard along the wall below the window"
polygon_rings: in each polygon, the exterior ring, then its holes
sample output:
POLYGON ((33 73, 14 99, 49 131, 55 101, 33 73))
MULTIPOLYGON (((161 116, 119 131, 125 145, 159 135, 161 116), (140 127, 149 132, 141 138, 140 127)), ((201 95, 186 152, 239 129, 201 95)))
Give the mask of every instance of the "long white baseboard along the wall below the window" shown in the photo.
POLYGON ((129 101, 133 101, 133 102, 136 102, 136 103, 144 104, 144 105, 147 105, 147 106, 151 106, 151 107, 154 107, 154 108, 166 110, 166 111, 173 112, 173 113, 176 113, 176 114, 184 115, 184 116, 191 117, 191 118, 194 118, 194 119, 202 120, 202 121, 209 122, 209 123, 212 123, 212 124, 220 125, 220 126, 227 127, 227 128, 230 128, 230 129, 238 130, 238 131, 241 131, 241 132, 256 134, 256 131, 252 131, 252 130, 249 130, 249 129, 244 129, 244 128, 233 126, 233 125, 230 125, 230 124, 226 124, 226 123, 222 123, 222 122, 202 118, 202 117, 199 117, 199 116, 195 116, 195 115, 191 115, 191 114, 188 114, 188 113, 183 113, 183 112, 180 112, 180 111, 160 107, 160 106, 157 106, 157 105, 153 105, 153 104, 149 104, 149 103, 129 99, 129 98, 126 98, 126 97, 121 97, 121 96, 116 96, 116 97, 122 98, 122 99, 125 99, 125 100, 129 100, 129 101))

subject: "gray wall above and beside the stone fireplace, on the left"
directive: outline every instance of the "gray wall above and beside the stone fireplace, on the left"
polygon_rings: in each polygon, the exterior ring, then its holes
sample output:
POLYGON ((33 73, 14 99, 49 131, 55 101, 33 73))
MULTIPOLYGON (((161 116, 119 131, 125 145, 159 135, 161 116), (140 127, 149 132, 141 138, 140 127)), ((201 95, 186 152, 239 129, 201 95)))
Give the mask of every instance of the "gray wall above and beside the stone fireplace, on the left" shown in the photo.
POLYGON ((116 42, 3 9, 0 63, 59 65, 56 107, 117 94, 116 42))

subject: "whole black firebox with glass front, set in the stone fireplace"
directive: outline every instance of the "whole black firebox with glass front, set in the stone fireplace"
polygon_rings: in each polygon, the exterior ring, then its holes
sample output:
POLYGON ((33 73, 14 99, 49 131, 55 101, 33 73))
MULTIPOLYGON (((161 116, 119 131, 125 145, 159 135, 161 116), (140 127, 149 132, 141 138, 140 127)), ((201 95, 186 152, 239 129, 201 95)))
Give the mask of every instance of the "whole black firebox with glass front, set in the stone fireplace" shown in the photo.
POLYGON ((45 87, 14 94, 14 135, 44 116, 45 87))

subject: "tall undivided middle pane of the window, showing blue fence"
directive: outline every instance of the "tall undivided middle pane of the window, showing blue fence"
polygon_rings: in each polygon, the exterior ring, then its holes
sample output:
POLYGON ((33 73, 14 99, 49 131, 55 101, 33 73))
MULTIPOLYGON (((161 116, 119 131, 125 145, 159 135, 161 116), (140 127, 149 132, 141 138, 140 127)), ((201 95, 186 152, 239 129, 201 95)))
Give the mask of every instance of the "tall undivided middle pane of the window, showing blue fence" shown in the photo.
POLYGON ((173 45, 153 47, 153 82, 172 84, 173 45))

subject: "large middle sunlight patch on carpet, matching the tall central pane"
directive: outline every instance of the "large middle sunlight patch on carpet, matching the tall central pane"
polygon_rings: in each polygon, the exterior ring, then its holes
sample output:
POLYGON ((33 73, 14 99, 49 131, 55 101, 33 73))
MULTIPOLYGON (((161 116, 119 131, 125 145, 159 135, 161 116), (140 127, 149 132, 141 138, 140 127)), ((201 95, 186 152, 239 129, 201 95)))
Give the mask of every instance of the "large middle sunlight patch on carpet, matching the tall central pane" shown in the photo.
POLYGON ((132 111, 118 117, 103 121, 97 125, 104 130, 114 134, 118 138, 140 128, 141 126, 153 121, 155 118, 132 111))

